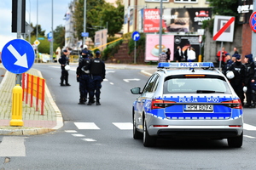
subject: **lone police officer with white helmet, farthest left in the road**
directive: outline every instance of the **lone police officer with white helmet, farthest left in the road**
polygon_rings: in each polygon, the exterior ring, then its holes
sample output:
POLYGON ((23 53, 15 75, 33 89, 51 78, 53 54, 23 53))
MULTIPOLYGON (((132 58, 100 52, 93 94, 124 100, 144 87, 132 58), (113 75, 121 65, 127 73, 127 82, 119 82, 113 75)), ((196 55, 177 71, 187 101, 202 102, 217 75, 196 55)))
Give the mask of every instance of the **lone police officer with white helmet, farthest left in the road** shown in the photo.
POLYGON ((61 64, 61 86, 70 86, 68 83, 68 71, 65 69, 66 65, 69 65, 69 59, 67 58, 68 51, 67 49, 63 50, 63 54, 59 59, 59 63, 61 64), (63 83, 65 81, 65 84, 63 83))

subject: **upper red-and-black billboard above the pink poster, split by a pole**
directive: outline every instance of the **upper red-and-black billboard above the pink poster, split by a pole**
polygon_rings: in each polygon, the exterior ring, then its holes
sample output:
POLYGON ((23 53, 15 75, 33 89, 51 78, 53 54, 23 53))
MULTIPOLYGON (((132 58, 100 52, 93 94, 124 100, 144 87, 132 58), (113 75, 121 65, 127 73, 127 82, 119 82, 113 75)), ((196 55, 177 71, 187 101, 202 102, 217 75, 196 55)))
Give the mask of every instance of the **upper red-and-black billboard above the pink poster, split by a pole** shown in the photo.
MULTIPOLYGON (((157 8, 144 9, 144 32, 159 31, 159 12, 157 8)), ((197 32, 203 20, 211 18, 212 8, 164 8, 163 28, 166 32, 197 32)))

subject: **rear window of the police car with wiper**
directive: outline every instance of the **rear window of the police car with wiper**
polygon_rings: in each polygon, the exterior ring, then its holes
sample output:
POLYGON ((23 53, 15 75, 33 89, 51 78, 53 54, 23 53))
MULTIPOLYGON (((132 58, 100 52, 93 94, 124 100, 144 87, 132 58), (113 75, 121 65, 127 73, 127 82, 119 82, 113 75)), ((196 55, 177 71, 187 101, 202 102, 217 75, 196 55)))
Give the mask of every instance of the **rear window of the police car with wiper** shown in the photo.
POLYGON ((223 77, 166 77, 164 94, 231 94, 223 77))

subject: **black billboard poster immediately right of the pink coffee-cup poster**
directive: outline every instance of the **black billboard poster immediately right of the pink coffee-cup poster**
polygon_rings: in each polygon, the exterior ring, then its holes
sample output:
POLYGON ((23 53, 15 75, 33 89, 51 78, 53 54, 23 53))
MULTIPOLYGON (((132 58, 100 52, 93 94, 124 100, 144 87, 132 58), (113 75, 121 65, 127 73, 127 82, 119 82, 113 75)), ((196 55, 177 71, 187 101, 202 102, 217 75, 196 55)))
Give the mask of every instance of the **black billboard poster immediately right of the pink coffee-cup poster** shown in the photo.
POLYGON ((192 47, 195 48, 195 56, 198 60, 198 56, 200 54, 200 42, 199 42, 199 36, 175 36, 174 37, 174 49, 177 49, 177 46, 182 48, 183 54, 185 54, 185 51, 187 48, 192 47))

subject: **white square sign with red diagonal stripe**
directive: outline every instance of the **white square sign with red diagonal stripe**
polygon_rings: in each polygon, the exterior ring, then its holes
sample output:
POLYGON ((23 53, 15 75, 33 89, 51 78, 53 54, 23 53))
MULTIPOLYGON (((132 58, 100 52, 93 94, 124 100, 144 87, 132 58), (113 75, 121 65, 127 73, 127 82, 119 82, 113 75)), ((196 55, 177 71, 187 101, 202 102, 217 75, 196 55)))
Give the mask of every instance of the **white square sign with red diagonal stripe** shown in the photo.
POLYGON ((213 27, 213 40, 233 42, 235 17, 216 15, 213 27))

